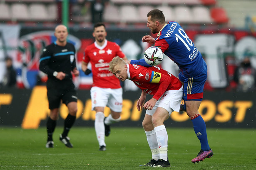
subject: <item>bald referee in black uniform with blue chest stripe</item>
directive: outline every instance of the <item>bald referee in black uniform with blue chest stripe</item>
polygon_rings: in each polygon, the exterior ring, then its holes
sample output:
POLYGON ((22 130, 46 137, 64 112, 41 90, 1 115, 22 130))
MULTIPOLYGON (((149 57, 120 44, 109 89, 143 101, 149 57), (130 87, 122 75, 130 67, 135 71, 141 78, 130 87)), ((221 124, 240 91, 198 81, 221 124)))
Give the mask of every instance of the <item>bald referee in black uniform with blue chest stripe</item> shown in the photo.
POLYGON ((76 119, 77 92, 72 82, 71 71, 75 76, 79 75, 79 71, 75 61, 75 46, 67 42, 67 27, 58 25, 54 35, 57 40, 43 49, 39 65, 39 69, 48 75, 46 87, 50 116, 46 124, 48 135, 46 148, 54 147, 52 134, 56 127, 61 101, 67 105, 69 114, 64 122, 64 131, 60 134, 60 141, 72 148, 73 145, 67 134, 76 119))

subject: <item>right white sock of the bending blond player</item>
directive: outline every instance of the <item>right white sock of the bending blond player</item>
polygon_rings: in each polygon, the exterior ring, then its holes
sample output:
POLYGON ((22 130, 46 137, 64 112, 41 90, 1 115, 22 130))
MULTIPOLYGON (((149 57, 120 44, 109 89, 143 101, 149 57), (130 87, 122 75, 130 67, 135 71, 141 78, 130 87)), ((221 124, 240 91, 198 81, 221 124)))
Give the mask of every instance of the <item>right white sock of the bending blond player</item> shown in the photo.
POLYGON ((157 135, 157 143, 160 150, 160 159, 167 161, 168 159, 168 134, 164 125, 157 126, 154 128, 157 135))

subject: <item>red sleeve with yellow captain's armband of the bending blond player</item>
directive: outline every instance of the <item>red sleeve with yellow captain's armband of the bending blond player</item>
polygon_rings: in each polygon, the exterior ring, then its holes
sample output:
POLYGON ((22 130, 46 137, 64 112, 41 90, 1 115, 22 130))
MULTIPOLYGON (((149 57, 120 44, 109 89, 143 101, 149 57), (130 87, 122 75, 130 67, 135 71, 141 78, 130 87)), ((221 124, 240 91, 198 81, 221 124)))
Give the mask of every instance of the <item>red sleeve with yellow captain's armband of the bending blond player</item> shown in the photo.
POLYGON ((154 99, 159 100, 159 98, 167 90, 169 84, 171 83, 171 79, 167 75, 152 71, 149 83, 159 83, 158 90, 153 96, 154 99))

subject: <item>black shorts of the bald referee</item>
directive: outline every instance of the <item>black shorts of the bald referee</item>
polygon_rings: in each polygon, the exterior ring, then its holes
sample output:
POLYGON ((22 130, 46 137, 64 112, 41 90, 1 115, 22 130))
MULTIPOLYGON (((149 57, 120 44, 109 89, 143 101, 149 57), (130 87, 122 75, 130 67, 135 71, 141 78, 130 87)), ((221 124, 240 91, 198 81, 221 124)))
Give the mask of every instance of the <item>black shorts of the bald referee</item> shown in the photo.
POLYGON ((61 100, 66 105, 70 102, 77 102, 77 91, 72 80, 48 79, 46 87, 49 109, 59 108, 61 100))

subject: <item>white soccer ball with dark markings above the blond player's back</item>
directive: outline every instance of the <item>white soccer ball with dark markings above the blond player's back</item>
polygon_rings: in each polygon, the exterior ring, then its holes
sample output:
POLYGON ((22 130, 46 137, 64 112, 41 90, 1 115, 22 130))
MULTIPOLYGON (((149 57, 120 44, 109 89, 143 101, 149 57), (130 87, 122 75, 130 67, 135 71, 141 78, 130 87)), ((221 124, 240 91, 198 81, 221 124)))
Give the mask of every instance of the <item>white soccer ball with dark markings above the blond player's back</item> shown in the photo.
POLYGON ((160 64, 163 61, 163 58, 164 56, 162 50, 156 46, 151 46, 144 52, 144 60, 150 66, 160 64))

